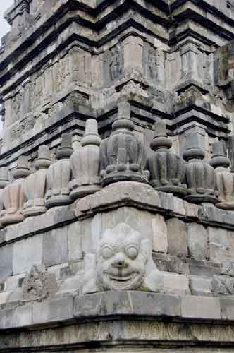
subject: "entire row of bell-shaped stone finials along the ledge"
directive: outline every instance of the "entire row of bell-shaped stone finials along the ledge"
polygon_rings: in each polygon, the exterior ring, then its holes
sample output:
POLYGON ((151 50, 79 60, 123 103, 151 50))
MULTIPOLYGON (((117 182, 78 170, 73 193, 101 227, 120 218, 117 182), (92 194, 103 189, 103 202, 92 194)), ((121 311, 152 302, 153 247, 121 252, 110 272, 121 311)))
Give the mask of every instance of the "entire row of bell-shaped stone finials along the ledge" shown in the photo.
POLYGON ((151 143, 154 152, 146 157, 144 146, 135 136, 130 104, 118 106, 111 136, 101 140, 97 121, 86 121, 80 148, 73 152, 72 138, 63 134, 57 161, 51 164, 49 148, 39 147, 36 172, 30 174, 27 157, 21 156, 8 181, 8 170, 0 169, 1 225, 21 222, 48 208, 68 205, 116 181, 149 182, 159 190, 173 193, 192 203, 214 203, 234 210, 234 176, 223 143, 216 140, 211 161, 204 162, 204 150, 197 135, 187 138, 189 147, 182 157, 171 152, 171 140, 163 121, 156 124, 151 143))

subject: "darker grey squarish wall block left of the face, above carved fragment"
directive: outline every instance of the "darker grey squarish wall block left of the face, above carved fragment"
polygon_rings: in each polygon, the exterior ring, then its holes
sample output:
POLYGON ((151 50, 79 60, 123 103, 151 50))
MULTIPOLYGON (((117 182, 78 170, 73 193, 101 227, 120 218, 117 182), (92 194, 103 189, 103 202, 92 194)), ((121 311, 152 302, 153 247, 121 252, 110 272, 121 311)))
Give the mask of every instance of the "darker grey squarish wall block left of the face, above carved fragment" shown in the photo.
POLYGON ((68 228, 61 227, 43 235, 43 263, 45 266, 68 262, 68 228))

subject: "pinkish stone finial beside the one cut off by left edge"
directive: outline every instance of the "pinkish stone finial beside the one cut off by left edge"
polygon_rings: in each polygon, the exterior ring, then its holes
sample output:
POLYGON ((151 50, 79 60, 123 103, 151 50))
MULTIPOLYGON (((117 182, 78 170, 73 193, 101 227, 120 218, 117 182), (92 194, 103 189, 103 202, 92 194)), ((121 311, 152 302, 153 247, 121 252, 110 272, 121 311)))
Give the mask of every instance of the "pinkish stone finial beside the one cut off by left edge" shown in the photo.
POLYGON ((19 157, 17 167, 13 170, 12 174, 15 180, 5 187, 3 193, 6 211, 1 217, 2 225, 11 225, 24 220, 23 205, 26 201, 26 196, 23 186, 25 177, 30 174, 28 158, 26 156, 19 157))

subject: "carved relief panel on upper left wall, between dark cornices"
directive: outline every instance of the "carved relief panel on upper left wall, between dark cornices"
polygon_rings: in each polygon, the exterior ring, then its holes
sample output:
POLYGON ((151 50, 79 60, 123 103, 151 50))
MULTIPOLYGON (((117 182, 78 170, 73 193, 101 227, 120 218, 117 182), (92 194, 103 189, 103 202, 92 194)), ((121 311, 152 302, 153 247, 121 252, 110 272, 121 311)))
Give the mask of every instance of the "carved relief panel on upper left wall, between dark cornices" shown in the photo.
POLYGON ((52 102, 57 93, 67 90, 70 83, 77 81, 79 85, 91 84, 91 55, 73 47, 62 57, 57 57, 53 64, 42 68, 37 76, 27 80, 6 101, 6 126, 23 119, 30 112, 36 115, 42 104, 52 102))

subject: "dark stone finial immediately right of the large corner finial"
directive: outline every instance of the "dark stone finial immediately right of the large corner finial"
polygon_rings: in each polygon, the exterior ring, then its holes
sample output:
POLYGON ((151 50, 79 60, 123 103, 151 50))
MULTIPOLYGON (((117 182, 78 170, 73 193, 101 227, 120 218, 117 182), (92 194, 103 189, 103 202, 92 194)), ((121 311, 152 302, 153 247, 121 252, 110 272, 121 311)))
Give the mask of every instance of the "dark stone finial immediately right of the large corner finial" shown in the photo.
POLYGON ((150 146, 155 151, 147 160, 150 184, 157 190, 185 196, 185 162, 179 155, 170 151, 172 142, 167 136, 164 121, 160 120, 156 124, 155 136, 150 146))

